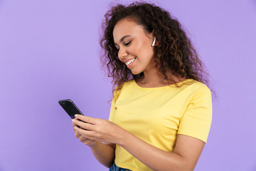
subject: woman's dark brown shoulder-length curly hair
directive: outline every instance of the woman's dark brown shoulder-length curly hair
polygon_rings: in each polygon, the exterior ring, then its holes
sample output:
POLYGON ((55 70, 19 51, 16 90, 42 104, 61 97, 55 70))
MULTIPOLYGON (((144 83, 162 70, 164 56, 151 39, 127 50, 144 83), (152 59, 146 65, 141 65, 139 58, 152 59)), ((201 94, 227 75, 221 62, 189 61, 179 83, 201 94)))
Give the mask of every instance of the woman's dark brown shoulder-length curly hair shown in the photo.
MULTIPOLYGON (((201 83, 209 83, 209 74, 204 70, 204 64, 198 58, 195 48, 190 38, 186 35, 178 20, 154 4, 145 2, 134 2, 129 6, 117 4, 105 14, 102 22, 102 37, 100 46, 104 49, 104 54, 100 60, 102 67, 107 68, 107 76, 112 77, 113 96, 115 90, 120 90, 124 82, 137 80, 144 73, 134 75, 127 66, 119 60, 118 50, 114 45, 113 29, 118 21, 130 19, 144 28, 146 33, 154 31, 154 36, 158 42, 154 46, 154 61, 159 73, 164 79, 171 83, 174 81, 166 75, 171 71, 178 78, 193 79, 201 83)), ((175 84, 177 87, 178 85, 175 84)))

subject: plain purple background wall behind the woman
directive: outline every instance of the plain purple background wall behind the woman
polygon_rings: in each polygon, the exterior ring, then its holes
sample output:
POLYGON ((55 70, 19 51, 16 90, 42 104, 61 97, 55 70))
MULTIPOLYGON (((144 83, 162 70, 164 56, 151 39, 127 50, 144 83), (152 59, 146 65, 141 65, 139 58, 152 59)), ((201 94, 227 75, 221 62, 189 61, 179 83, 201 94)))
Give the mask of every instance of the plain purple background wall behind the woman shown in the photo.
MULTIPOLYGON (((256 170, 256 2, 149 2, 187 29, 218 95, 196 170, 256 170)), ((110 4, 0 0, 0 170, 107 170, 75 138, 58 100, 108 118, 99 28, 110 4)))

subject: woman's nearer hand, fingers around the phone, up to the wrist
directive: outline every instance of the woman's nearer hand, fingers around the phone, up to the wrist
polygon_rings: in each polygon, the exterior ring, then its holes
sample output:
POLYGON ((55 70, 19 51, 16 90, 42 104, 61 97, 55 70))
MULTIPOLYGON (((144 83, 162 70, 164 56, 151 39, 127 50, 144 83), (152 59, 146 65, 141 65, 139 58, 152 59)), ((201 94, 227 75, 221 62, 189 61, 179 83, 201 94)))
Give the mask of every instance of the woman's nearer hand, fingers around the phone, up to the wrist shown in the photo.
POLYGON ((74 129, 89 140, 119 144, 119 142, 124 140, 124 135, 127 132, 119 127, 119 125, 108 120, 91 118, 84 115, 75 115, 73 123, 80 126, 80 128, 76 126, 74 129), (80 120, 85 121, 85 123, 80 120))

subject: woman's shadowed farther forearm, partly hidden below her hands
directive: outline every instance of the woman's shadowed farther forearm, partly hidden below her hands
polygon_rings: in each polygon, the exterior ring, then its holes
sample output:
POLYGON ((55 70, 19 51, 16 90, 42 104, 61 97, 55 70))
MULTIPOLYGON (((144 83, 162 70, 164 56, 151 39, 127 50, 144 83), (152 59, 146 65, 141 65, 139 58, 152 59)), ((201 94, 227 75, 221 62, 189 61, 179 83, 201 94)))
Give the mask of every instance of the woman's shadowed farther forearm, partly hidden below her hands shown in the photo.
POLYGON ((90 146, 93 155, 96 159, 106 167, 110 168, 112 162, 114 162, 114 149, 107 144, 103 144, 101 141, 95 142, 94 145, 90 146))

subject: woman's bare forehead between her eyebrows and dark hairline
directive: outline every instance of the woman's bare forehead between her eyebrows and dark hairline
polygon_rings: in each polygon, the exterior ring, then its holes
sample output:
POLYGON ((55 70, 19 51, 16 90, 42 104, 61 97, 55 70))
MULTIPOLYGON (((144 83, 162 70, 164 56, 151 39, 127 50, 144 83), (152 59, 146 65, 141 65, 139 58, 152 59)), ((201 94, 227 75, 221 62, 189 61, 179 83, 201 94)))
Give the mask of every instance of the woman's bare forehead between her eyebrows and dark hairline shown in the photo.
MULTIPOLYGON (((130 19, 122 19, 117 22, 113 29, 114 42, 119 41, 123 36, 138 36, 144 33, 142 26, 130 19)), ((144 33, 145 34, 145 33, 144 33)))

